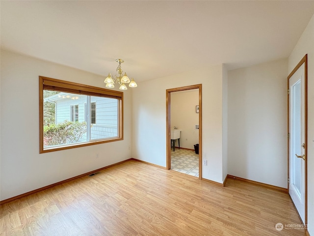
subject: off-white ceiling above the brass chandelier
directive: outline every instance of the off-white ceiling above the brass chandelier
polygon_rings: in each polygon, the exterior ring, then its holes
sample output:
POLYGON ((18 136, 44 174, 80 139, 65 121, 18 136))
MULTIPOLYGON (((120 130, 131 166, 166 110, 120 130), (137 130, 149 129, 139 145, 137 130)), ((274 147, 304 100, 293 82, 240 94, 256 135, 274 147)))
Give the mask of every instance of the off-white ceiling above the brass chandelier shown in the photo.
POLYGON ((0 1, 1 48, 135 81, 287 58, 314 1, 0 1))

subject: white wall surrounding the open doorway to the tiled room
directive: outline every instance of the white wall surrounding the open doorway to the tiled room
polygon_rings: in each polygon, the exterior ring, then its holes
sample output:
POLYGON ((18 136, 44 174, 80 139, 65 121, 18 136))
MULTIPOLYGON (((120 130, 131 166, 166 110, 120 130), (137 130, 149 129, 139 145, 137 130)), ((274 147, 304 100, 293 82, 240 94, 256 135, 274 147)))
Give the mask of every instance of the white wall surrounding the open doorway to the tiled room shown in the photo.
POLYGON ((132 94, 132 156, 166 166, 166 89, 196 84, 203 90, 203 178, 222 183, 222 65, 138 83, 132 94))

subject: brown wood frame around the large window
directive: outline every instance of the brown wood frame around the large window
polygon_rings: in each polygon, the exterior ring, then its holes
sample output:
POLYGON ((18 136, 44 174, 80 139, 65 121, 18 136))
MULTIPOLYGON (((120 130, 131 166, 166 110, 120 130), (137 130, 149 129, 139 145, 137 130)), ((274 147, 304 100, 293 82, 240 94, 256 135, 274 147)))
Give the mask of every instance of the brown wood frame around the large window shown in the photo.
POLYGON ((39 76, 39 153, 58 151, 70 148, 79 148, 96 144, 104 144, 120 140, 123 140, 123 92, 39 76), (70 92, 88 96, 99 96, 118 99, 119 101, 118 137, 106 140, 88 141, 83 144, 81 143, 71 144, 62 147, 44 149, 44 90, 70 92))

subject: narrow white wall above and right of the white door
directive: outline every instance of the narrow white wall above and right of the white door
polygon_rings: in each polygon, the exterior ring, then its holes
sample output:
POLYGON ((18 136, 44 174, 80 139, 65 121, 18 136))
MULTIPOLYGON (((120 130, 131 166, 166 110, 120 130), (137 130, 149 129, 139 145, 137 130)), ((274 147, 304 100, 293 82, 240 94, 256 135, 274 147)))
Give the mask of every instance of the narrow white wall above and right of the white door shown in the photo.
POLYGON ((308 231, 314 236, 314 16, 288 59, 288 74, 308 54, 308 231))

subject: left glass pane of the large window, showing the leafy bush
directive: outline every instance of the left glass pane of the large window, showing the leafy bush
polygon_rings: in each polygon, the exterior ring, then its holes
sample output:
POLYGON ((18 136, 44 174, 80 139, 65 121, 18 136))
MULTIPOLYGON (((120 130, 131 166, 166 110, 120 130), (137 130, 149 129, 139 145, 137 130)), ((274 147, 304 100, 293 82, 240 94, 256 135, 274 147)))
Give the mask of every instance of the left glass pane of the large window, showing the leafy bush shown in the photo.
POLYGON ((86 95, 44 90, 44 148, 86 142, 86 95))

